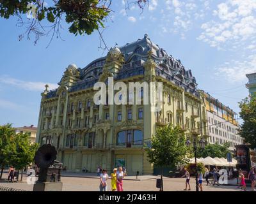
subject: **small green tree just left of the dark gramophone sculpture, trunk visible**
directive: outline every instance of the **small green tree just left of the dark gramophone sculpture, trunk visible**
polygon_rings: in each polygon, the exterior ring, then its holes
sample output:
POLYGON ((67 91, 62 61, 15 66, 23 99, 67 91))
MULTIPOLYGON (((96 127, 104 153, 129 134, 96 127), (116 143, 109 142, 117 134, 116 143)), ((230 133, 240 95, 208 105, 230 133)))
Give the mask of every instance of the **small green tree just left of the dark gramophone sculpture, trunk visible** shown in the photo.
MULTIPOLYGON (((28 133, 19 133, 15 135, 15 152, 12 154, 10 163, 16 170, 23 170, 33 163, 38 143, 31 144, 28 133)), ((22 179, 22 177, 21 177, 22 179)))

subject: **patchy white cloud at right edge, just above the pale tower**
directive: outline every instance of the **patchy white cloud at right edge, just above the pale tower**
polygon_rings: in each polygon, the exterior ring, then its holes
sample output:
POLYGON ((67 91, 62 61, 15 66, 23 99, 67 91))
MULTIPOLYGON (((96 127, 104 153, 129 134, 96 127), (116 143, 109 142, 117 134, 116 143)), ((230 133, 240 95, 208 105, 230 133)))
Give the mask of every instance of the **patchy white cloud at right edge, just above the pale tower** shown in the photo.
POLYGON ((256 55, 250 55, 244 61, 225 62, 216 69, 216 76, 230 83, 246 82, 246 74, 256 71, 256 55))

